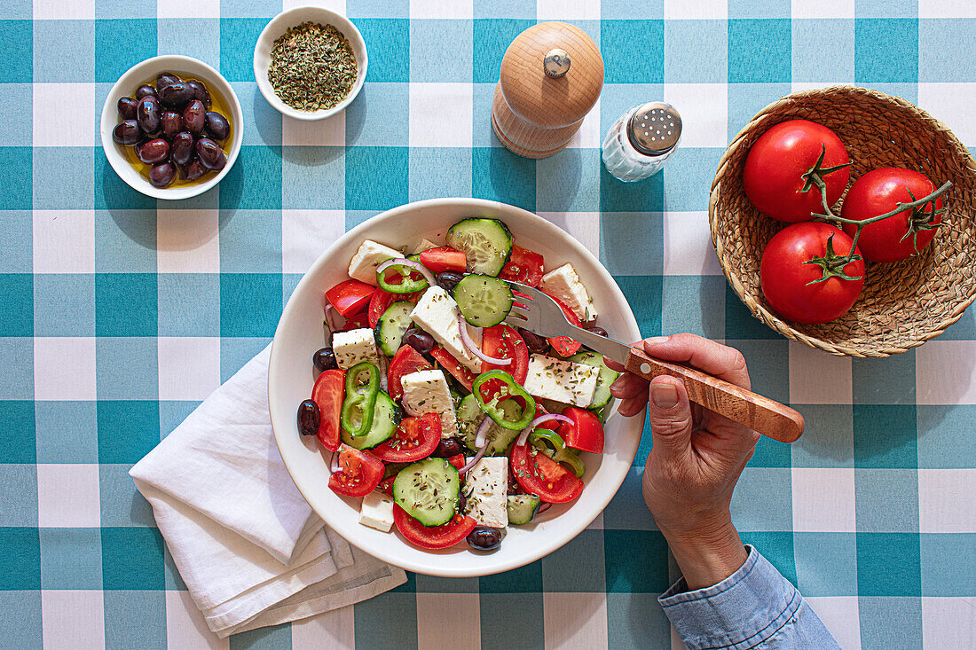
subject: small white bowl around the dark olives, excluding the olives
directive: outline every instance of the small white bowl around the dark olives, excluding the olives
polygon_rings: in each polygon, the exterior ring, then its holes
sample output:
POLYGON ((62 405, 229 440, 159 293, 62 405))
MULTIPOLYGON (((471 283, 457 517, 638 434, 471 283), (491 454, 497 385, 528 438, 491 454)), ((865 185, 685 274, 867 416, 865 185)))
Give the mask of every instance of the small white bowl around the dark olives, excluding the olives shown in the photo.
POLYGON ((119 77, 119 80, 108 92, 108 97, 105 98, 105 104, 102 106, 101 131, 105 157, 119 178, 133 189, 147 196, 172 200, 184 199, 202 194, 220 183, 230 168, 233 167, 234 161, 237 160, 237 154, 240 152, 241 140, 244 137, 244 111, 241 110, 241 104, 237 101, 234 90, 220 72, 203 61, 192 57, 165 55, 136 63, 119 77), (230 114, 224 115, 231 123, 230 150, 226 154, 227 164, 217 174, 209 174, 203 177, 203 183, 182 187, 156 187, 132 166, 123 152, 126 147, 112 140, 112 130, 119 123, 118 101, 123 97, 135 97, 136 89, 143 83, 155 81, 156 75, 160 72, 173 72, 183 79, 199 79, 207 86, 211 96, 219 96, 221 103, 230 109, 230 114))

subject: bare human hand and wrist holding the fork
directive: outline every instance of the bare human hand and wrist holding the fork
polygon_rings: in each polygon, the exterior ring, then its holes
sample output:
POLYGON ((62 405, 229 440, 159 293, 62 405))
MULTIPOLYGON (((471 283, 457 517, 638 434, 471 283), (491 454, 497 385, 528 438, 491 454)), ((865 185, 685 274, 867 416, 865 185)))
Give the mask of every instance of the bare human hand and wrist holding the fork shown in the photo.
MULTIPOLYGON (((750 387, 746 359, 734 347, 693 334, 656 337, 642 345, 655 358, 750 387)), ((624 370, 613 361, 607 365, 624 370)), ((636 415, 649 401, 654 445, 644 466, 644 501, 688 587, 701 589, 720 582, 746 561, 729 502, 759 434, 691 404, 684 383, 674 377, 657 377, 648 385, 647 380, 625 373, 610 391, 622 400, 618 411, 624 416, 636 415)))

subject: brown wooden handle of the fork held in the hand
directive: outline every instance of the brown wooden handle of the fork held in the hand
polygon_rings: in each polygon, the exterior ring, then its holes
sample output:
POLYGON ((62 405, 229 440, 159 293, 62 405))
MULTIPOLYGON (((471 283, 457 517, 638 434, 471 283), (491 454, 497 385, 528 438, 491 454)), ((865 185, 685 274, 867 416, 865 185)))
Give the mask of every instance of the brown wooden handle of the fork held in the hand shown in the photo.
POLYGON ((803 432, 803 416, 798 411, 700 370, 652 358, 634 347, 624 367, 647 380, 661 375, 677 377, 691 401, 774 440, 793 442, 803 432))

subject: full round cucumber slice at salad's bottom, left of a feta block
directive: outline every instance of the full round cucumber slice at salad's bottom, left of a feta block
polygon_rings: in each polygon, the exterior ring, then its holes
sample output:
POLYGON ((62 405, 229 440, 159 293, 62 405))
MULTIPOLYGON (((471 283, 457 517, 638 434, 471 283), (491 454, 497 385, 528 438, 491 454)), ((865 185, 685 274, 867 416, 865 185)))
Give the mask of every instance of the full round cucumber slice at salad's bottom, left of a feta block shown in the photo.
POLYGON ((425 526, 440 526, 454 516, 460 488, 457 467, 442 458, 428 458, 396 474, 393 501, 425 526))

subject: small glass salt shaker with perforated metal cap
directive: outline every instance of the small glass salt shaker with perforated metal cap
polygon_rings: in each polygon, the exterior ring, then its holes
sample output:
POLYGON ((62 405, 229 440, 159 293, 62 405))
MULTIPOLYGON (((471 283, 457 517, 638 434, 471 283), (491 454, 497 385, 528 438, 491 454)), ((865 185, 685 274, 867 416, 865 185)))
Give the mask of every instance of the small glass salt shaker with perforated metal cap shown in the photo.
POLYGON ((670 103, 632 106, 603 139, 603 164, 617 179, 631 183, 654 176, 681 139, 681 116, 670 103))

